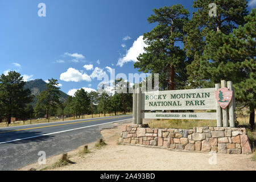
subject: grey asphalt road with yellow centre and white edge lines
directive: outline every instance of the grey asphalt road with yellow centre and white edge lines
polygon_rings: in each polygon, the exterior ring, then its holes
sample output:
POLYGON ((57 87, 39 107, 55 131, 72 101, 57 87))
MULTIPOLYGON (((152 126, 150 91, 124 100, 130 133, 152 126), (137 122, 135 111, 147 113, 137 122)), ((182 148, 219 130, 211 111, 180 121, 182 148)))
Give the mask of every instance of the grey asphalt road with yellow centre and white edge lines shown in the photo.
POLYGON ((102 127, 109 127, 113 122, 130 122, 131 118, 131 115, 118 115, 0 128, 0 170, 14 170, 35 163, 39 151, 45 151, 48 158, 74 150, 101 138, 102 127))

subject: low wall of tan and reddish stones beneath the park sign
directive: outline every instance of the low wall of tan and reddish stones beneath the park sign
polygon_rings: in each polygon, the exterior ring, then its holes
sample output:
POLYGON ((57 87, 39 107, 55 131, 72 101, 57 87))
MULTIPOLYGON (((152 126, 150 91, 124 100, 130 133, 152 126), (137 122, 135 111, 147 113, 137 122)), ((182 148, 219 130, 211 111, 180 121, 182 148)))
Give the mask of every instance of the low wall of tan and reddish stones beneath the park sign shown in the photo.
POLYGON ((148 125, 124 125, 119 143, 159 146, 171 150, 251 153, 244 128, 194 127, 193 129, 154 129, 148 125))

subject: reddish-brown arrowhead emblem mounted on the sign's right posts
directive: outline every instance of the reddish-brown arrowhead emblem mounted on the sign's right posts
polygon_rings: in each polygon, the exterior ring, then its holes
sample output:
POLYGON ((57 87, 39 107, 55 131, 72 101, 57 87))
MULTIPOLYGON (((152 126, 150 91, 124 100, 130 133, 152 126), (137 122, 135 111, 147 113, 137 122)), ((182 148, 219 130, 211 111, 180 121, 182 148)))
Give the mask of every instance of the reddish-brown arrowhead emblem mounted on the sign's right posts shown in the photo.
POLYGON ((216 100, 222 109, 226 109, 226 107, 230 104, 232 96, 233 91, 229 90, 228 88, 220 88, 215 91, 216 100))

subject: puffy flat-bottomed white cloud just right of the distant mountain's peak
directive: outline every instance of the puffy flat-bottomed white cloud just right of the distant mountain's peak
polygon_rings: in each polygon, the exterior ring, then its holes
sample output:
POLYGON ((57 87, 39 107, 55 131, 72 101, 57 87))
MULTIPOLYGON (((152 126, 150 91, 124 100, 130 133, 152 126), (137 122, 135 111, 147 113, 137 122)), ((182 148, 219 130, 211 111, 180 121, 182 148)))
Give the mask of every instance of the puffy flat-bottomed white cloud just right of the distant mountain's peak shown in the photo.
POLYGON ((92 81, 89 75, 81 73, 75 68, 68 68, 67 72, 60 74, 60 80, 63 81, 92 81))

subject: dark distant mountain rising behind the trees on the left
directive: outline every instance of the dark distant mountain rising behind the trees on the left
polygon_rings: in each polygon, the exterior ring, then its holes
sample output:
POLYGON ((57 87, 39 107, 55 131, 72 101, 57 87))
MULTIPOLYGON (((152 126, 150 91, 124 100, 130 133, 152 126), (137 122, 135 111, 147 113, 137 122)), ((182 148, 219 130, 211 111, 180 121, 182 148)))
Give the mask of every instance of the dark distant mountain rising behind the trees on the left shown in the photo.
MULTIPOLYGON (((47 83, 42 79, 31 80, 26 82, 26 84, 24 85, 24 89, 30 89, 33 96, 38 96, 43 90, 46 90, 46 84, 47 83)), ((68 94, 60 90, 60 100, 64 102, 65 100, 67 100, 67 98, 68 94)), ((37 101, 38 100, 35 97, 32 105, 35 106, 37 101)))

